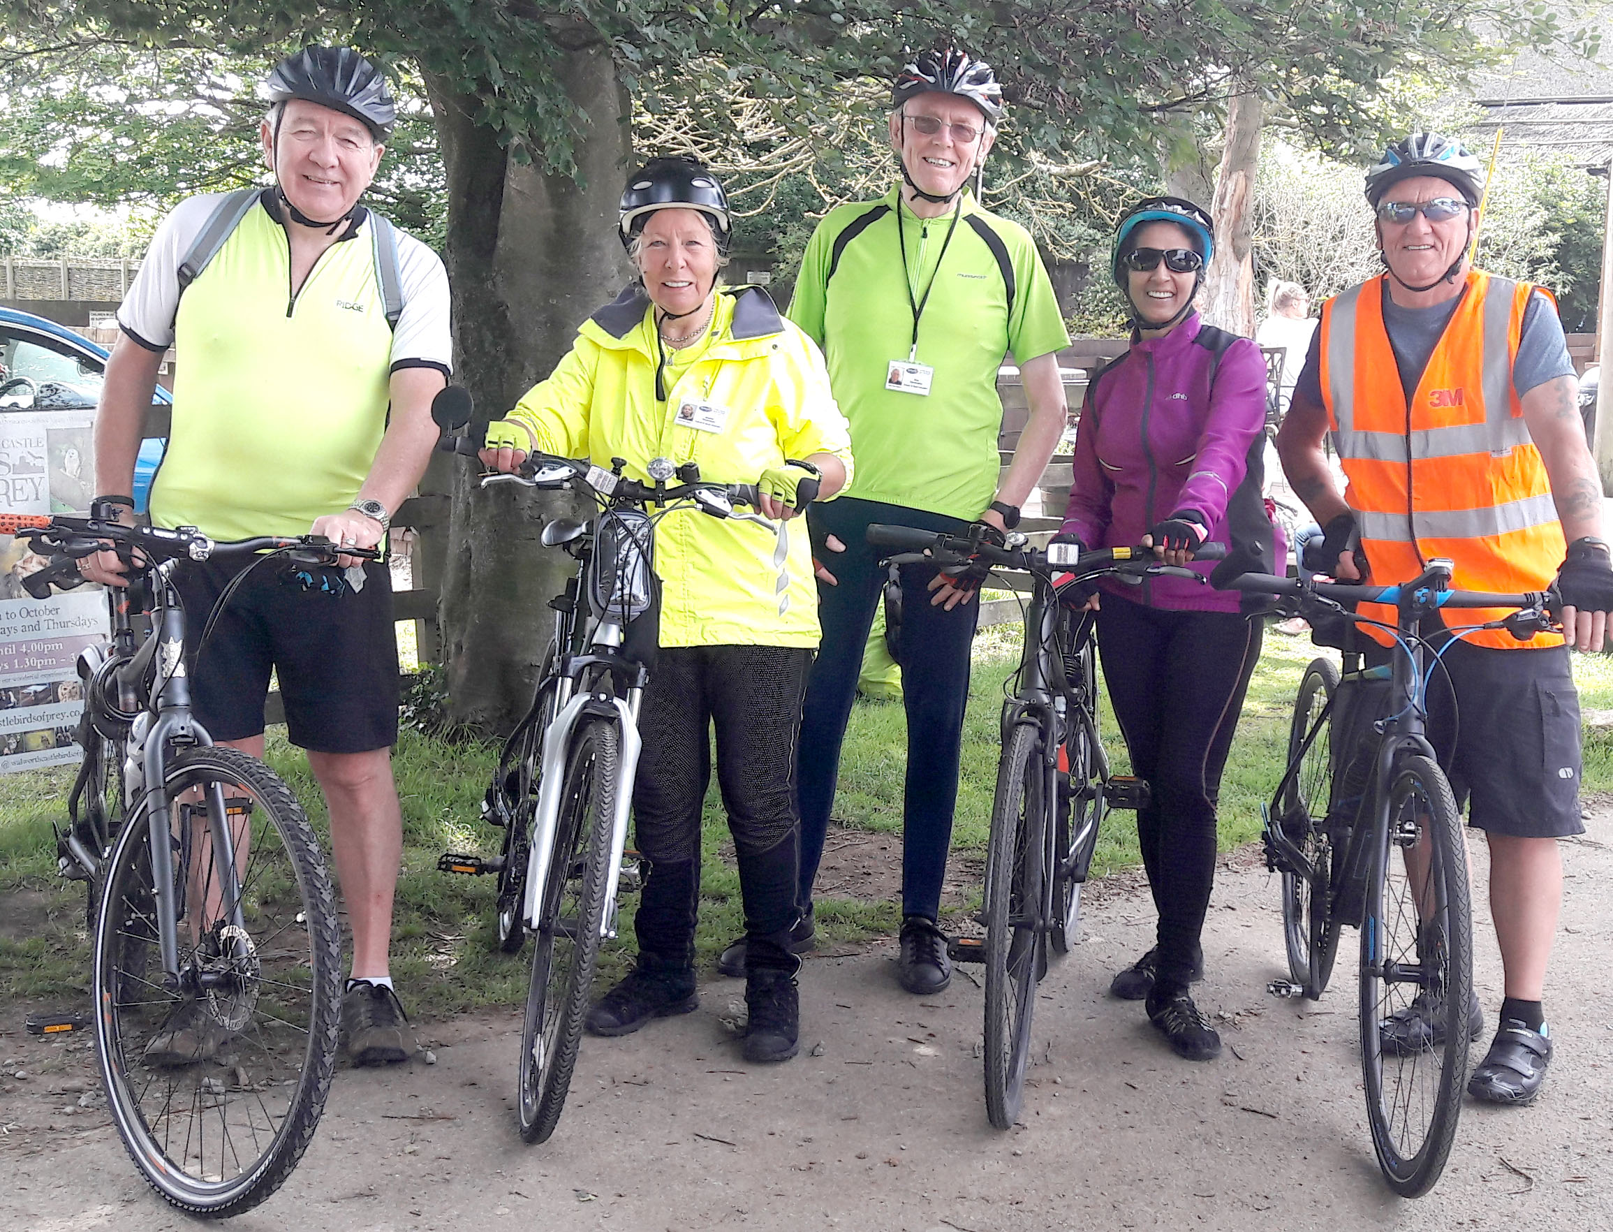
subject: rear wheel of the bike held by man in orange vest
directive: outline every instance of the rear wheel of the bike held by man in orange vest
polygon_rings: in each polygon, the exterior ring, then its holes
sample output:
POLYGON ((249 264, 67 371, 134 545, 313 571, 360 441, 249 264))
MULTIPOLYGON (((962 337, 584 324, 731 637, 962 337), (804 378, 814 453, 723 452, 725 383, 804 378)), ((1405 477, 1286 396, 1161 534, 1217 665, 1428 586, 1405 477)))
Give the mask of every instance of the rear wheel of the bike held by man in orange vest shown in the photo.
POLYGON ((1289 976, 1313 1001, 1327 990, 1339 953, 1339 924, 1329 909, 1332 839, 1327 830, 1327 801, 1332 792, 1331 705, 1337 689, 1337 664, 1332 660, 1311 660, 1300 679, 1289 724, 1287 764, 1292 768, 1298 763, 1298 769, 1277 800, 1277 824, 1313 869, 1311 879, 1282 871, 1282 943, 1289 976), (1307 737, 1311 737, 1316 724, 1321 729, 1307 747, 1307 737))

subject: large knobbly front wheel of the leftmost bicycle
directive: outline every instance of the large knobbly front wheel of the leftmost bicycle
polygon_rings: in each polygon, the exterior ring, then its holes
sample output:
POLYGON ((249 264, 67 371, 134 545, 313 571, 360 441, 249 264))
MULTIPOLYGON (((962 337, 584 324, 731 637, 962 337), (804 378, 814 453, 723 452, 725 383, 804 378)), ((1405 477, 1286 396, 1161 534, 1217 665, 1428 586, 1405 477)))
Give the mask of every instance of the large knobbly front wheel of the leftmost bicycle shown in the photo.
POLYGON ((147 974, 161 971, 161 956, 142 810, 113 848, 95 929, 95 1045, 135 1167, 173 1206, 224 1217, 279 1188, 324 1111, 340 926, 308 818, 268 766, 232 748, 190 748, 169 761, 165 785, 179 987, 147 974), (250 832, 234 871, 213 861, 205 827, 218 810, 234 839, 250 832), (232 897, 239 916, 221 906, 232 897))

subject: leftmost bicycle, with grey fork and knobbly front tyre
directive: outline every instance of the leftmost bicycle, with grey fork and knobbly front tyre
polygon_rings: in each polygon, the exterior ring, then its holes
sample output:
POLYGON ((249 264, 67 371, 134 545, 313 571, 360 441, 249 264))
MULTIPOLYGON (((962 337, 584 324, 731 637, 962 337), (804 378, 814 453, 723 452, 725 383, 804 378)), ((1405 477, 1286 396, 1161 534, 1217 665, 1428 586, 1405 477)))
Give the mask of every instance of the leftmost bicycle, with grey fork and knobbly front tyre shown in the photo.
POLYGON ((182 560, 260 553, 248 568, 286 558, 306 572, 334 564, 337 548, 316 537, 218 543, 194 527, 94 516, 6 514, 0 534, 58 556, 29 579, 39 590, 71 584, 74 558, 108 543, 129 566, 129 585, 108 589, 111 640, 79 656, 84 761, 58 864, 90 887, 95 1048, 129 1158, 179 1209, 239 1214, 279 1188, 324 1109, 340 926, 290 789, 215 747, 190 713, 173 574, 182 560))

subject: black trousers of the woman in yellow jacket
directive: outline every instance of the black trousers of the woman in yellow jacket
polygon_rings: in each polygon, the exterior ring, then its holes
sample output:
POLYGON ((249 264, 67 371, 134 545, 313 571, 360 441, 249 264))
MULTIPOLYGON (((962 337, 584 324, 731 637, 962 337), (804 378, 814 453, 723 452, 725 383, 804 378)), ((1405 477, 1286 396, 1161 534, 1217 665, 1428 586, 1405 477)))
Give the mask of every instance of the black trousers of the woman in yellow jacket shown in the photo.
POLYGON ((694 963, 715 722, 745 934, 761 966, 794 966, 782 939, 795 922, 795 737, 811 660, 810 647, 660 650, 639 713, 644 751, 632 792, 634 832, 650 861, 634 919, 640 951, 694 963))

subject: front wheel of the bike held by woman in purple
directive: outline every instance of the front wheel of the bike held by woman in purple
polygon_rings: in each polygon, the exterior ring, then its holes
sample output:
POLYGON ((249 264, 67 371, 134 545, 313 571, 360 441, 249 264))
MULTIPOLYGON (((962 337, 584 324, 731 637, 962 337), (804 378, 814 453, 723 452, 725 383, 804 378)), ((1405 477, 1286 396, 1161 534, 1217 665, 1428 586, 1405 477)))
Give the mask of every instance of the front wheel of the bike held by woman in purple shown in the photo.
POLYGON ((986 1116, 997 1129, 1013 1126, 1024 1100, 1036 985, 1045 966, 1047 810, 1037 735, 1021 722, 1003 745, 986 853, 986 1116))

